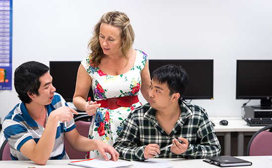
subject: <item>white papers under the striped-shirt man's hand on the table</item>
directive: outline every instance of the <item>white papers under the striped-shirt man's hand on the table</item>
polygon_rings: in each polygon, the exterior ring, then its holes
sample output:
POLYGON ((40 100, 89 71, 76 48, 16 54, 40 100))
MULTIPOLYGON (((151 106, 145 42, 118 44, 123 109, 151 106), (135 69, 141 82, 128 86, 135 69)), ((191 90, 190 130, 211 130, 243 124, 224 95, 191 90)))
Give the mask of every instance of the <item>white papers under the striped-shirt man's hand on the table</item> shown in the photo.
POLYGON ((105 161, 102 158, 92 159, 92 160, 83 160, 79 162, 70 162, 69 165, 74 166, 81 166, 86 168, 120 168, 131 166, 132 163, 129 161, 122 161, 118 160, 117 162, 114 161, 105 161))

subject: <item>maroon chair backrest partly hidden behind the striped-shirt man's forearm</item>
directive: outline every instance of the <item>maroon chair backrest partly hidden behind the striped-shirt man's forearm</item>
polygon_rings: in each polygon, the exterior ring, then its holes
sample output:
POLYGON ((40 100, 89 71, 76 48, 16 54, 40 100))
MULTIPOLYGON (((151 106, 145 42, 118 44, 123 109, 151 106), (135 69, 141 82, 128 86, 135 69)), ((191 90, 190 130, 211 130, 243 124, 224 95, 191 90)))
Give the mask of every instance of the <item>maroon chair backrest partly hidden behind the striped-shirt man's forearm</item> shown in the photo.
MULTIPOLYGON (((76 128, 82 136, 88 137, 89 136, 89 129, 90 129, 90 124, 91 122, 84 122, 84 121, 76 121, 75 125, 76 128)), ((85 159, 86 152, 79 152, 74 150, 67 139, 64 137, 64 146, 65 146, 65 151, 68 154, 70 159, 85 159)))

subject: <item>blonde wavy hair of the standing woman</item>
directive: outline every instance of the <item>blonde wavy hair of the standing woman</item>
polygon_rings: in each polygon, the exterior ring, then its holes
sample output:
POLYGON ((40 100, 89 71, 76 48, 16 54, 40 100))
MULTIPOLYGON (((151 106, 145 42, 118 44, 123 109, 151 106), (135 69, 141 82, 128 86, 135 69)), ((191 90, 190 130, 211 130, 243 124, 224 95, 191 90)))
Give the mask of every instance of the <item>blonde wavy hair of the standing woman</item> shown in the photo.
POLYGON ((134 43, 135 34, 134 30, 130 24, 130 19, 127 14, 119 11, 112 11, 103 14, 98 23, 94 26, 93 36, 88 43, 89 50, 89 59, 91 60, 92 66, 97 66, 100 64, 100 61, 104 55, 103 50, 99 42, 99 33, 101 23, 106 23, 112 26, 116 26, 121 30, 121 39, 124 39, 125 42, 121 46, 121 51, 124 58, 129 61, 128 53, 132 49, 134 43))

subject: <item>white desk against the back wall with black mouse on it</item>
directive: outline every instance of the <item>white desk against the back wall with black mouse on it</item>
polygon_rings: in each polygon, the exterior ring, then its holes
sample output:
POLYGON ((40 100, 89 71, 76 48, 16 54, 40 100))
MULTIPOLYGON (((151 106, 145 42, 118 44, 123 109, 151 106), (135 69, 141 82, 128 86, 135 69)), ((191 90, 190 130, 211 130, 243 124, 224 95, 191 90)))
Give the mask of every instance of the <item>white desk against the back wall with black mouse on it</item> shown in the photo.
POLYGON ((215 124, 214 128, 218 136, 224 136, 224 155, 230 155, 231 135, 230 132, 237 132, 237 156, 244 155, 244 135, 249 132, 257 132, 264 126, 247 126, 244 119, 241 117, 216 118, 210 117, 210 120, 215 124), (222 126, 219 124, 221 120, 227 120, 228 125, 222 126))

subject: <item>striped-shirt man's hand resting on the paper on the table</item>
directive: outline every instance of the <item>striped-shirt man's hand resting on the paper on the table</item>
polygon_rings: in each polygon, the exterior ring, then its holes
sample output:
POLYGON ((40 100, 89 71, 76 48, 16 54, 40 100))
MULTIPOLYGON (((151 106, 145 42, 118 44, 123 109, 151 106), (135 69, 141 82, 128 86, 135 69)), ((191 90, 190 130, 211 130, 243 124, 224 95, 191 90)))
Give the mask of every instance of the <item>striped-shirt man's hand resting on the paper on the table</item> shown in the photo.
POLYGON ((117 161, 119 158, 119 153, 112 146, 103 141, 97 140, 97 150, 104 157, 105 161, 108 161, 108 156, 106 153, 110 154, 111 161, 117 161))

